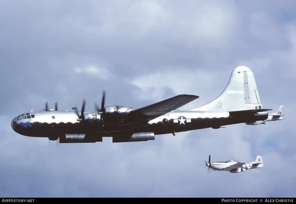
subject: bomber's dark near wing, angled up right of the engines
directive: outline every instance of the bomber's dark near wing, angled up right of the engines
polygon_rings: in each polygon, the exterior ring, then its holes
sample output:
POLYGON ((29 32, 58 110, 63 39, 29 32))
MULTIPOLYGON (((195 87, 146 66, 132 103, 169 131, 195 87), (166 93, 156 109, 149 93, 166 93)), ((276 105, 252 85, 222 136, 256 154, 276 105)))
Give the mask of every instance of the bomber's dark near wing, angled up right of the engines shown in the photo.
POLYGON ((199 98, 197 95, 177 95, 173 98, 169 98, 143 108, 132 110, 128 115, 128 120, 130 122, 140 122, 147 119, 152 120, 181 106, 184 106, 185 104, 197 98, 199 98))

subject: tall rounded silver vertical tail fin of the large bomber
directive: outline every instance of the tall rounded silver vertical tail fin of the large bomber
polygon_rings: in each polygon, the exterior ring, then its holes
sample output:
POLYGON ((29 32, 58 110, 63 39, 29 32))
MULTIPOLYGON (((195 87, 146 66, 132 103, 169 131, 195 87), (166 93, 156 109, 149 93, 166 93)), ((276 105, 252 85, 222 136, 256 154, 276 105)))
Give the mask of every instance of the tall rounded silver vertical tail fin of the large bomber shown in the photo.
POLYGON ((262 109, 257 85, 251 69, 239 66, 231 73, 223 92, 212 102, 194 111, 242 111, 262 109))

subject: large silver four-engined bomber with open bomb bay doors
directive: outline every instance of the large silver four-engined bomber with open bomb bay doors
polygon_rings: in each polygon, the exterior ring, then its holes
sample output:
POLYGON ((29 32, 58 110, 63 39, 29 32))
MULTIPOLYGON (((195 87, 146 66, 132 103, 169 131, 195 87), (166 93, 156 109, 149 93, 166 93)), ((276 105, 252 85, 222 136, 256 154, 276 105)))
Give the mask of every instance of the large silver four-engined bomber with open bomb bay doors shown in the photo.
MULTIPOLYGON (((210 103, 187 111, 179 107, 197 99, 196 95, 177 95, 173 98, 133 109, 123 106, 104 106, 96 111, 58 111, 46 107, 39 112, 27 112, 15 117, 12 129, 25 136, 48 137, 59 143, 102 142, 102 137, 112 137, 113 142, 154 140, 155 135, 183 132, 224 125, 260 124, 285 119, 284 111, 269 115, 260 102, 256 82, 248 67, 234 69, 224 91, 210 103)), ((284 110, 283 106, 280 106, 284 110)))

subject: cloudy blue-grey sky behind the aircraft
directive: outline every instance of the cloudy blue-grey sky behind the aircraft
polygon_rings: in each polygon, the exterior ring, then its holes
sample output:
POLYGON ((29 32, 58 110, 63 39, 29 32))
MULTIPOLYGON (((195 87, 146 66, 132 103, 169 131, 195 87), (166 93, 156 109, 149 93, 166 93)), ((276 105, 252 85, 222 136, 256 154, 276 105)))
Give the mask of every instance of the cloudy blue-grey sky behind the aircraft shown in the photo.
POLYGON ((295 197, 295 1, 0 1, 0 197, 295 197), (215 99, 249 67, 263 108, 287 119, 147 142, 59 144, 14 132, 46 101, 59 110, 215 99), (271 111, 272 112, 272 111, 271 111), (251 162, 239 174, 204 161, 251 162))

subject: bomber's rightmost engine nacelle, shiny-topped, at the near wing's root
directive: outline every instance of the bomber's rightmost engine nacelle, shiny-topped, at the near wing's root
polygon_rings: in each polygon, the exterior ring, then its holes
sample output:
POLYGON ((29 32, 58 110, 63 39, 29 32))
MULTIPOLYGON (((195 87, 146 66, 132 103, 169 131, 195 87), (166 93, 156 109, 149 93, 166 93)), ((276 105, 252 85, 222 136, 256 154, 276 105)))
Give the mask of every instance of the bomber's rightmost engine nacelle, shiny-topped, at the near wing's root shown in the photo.
POLYGON ((124 106, 106 106, 104 109, 104 122, 113 124, 125 123, 128 114, 134 110, 133 108, 124 106))

